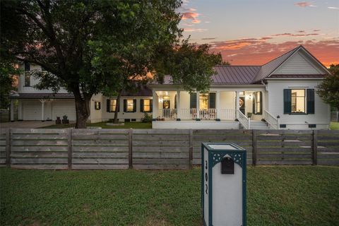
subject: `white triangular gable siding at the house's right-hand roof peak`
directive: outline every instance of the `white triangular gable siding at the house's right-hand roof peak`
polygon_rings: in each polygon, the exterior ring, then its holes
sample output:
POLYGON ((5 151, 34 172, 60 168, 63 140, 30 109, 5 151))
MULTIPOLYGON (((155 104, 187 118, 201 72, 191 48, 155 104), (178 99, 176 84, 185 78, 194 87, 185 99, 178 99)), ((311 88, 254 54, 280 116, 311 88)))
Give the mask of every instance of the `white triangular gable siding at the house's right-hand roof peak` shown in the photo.
POLYGON ((287 59, 273 74, 319 74, 323 73, 311 63, 311 59, 301 52, 296 52, 287 59))

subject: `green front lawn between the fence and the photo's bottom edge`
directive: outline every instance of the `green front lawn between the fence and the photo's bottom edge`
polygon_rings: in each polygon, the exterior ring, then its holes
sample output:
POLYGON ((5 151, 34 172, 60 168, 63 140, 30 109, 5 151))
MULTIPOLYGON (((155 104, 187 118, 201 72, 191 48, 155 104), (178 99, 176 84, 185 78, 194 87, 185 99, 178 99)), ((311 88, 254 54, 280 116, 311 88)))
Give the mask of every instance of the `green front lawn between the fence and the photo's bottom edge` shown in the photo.
MULTIPOLYGON (((200 168, 0 169, 0 225, 202 225, 200 168)), ((248 225, 338 225, 339 167, 248 167, 248 225)))

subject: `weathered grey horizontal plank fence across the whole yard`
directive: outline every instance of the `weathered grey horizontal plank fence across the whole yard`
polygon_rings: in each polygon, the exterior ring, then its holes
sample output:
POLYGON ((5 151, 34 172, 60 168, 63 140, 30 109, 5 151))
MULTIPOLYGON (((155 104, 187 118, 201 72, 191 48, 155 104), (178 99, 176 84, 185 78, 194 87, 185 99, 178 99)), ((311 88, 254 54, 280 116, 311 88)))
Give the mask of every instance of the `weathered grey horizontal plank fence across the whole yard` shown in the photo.
POLYGON ((339 165, 339 131, 1 129, 0 166, 20 169, 191 169, 202 142, 233 142, 253 165, 339 165))

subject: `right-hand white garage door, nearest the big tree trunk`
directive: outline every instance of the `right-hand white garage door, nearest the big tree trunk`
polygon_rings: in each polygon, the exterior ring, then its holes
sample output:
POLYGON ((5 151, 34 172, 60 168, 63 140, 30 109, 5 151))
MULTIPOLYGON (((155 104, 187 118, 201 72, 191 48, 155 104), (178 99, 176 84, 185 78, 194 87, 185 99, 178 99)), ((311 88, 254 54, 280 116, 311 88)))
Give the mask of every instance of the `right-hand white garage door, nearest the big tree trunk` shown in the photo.
POLYGON ((76 120, 76 103, 74 100, 55 100, 52 102, 52 117, 53 120, 57 117, 62 117, 66 114, 69 120, 76 120))

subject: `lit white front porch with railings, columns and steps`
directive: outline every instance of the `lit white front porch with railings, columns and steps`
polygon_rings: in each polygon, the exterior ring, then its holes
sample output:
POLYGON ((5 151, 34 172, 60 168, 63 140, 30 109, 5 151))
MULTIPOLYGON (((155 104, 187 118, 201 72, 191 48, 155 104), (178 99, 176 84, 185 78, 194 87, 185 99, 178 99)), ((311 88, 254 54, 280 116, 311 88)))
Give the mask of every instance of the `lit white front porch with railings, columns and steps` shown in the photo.
POLYGON ((263 88, 210 90, 198 95, 153 89, 153 128, 239 129, 240 124, 250 129, 251 120, 270 117, 265 98, 263 88))

